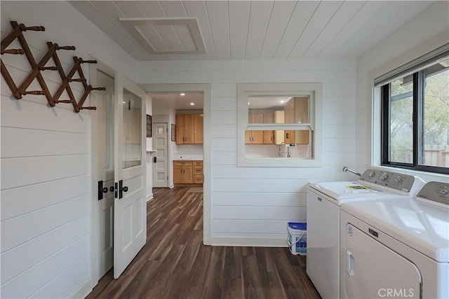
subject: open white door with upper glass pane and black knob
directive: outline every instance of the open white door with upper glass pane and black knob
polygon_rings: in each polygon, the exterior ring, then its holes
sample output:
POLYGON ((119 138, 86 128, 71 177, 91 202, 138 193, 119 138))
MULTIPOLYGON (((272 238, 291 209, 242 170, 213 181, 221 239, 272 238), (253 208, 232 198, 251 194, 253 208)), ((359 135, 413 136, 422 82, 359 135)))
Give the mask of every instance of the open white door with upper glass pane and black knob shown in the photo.
POLYGON ((114 278, 147 239, 145 92, 116 76, 114 118, 114 278))

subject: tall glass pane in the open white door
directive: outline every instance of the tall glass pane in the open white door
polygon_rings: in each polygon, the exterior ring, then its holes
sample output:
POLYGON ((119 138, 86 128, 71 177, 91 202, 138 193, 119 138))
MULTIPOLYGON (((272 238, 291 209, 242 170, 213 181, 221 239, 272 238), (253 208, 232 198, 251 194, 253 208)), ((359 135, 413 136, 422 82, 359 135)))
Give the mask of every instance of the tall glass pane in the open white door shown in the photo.
POLYGON ((142 100, 123 89, 123 169, 142 165, 142 100))

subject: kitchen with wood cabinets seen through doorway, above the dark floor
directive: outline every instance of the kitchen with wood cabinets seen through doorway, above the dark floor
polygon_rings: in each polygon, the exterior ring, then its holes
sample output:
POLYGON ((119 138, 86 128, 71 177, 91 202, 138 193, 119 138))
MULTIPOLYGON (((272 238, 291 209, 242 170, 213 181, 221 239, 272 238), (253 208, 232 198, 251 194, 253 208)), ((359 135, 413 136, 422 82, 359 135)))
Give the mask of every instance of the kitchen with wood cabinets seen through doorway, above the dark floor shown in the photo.
POLYGON ((202 186, 203 92, 159 92, 149 96, 154 120, 153 186, 202 186))

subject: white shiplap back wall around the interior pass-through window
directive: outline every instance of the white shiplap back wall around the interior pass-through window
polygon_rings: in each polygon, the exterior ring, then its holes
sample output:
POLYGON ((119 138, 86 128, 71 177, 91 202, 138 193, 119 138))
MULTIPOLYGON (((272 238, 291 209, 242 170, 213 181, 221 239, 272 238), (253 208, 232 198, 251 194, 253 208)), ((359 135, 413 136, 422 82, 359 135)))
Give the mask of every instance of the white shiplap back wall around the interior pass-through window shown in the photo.
POLYGON ((307 183, 355 178, 341 170, 356 162, 355 60, 142 62, 137 77, 211 84, 212 244, 286 246, 287 222, 306 220, 307 183), (323 83, 322 167, 237 167, 236 83, 263 82, 323 83))

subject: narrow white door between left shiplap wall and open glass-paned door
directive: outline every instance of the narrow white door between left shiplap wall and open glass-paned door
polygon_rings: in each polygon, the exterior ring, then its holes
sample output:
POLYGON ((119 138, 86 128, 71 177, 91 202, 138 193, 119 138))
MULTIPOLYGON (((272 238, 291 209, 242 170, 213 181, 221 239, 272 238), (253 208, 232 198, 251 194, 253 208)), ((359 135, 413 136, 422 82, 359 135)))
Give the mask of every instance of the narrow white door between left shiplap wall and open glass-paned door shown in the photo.
POLYGON ((114 78, 96 66, 91 82, 106 90, 93 92, 92 277, 95 284, 114 265, 114 78))

